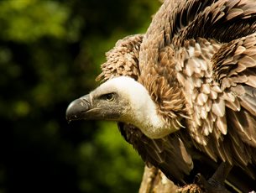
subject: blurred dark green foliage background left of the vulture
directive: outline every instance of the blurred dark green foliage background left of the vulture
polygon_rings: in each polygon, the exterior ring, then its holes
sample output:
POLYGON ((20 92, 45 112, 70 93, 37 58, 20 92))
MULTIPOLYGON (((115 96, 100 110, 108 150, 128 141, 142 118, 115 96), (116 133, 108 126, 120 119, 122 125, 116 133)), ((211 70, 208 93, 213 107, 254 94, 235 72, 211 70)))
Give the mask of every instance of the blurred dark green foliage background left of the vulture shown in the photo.
POLYGON ((138 192, 144 164, 115 123, 67 124, 105 52, 144 33, 153 0, 0 1, 0 193, 138 192))

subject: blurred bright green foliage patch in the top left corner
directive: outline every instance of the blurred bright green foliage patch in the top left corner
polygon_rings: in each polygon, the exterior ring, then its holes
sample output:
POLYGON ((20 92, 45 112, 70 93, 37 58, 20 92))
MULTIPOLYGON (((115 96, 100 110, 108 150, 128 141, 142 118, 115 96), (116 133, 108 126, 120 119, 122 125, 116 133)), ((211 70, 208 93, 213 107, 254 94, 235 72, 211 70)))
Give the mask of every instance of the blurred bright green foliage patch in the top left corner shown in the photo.
POLYGON ((65 22, 69 16, 69 10, 58 2, 2 1, 0 9, 1 29, 5 39, 26 43, 42 36, 57 39, 66 36, 65 22))

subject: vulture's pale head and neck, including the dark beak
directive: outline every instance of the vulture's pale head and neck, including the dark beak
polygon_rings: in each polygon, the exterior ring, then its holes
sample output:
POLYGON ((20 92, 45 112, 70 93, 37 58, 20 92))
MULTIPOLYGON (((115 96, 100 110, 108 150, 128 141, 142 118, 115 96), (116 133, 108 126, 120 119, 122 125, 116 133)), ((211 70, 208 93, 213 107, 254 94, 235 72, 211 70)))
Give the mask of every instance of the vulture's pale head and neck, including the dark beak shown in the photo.
POLYGON ((176 131, 159 116, 149 91, 128 76, 112 78, 71 102, 66 118, 68 121, 97 119, 129 123, 149 138, 162 138, 176 131))

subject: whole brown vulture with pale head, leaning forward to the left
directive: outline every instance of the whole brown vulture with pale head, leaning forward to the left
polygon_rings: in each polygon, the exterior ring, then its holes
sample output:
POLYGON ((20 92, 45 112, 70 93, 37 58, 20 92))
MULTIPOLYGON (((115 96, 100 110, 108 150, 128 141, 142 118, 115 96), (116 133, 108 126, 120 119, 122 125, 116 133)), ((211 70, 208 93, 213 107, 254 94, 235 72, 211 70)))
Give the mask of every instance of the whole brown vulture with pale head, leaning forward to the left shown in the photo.
POLYGON ((211 166, 208 192, 256 189, 256 1, 165 0, 145 34, 107 52, 97 81, 68 121, 117 122, 180 185, 211 166))

